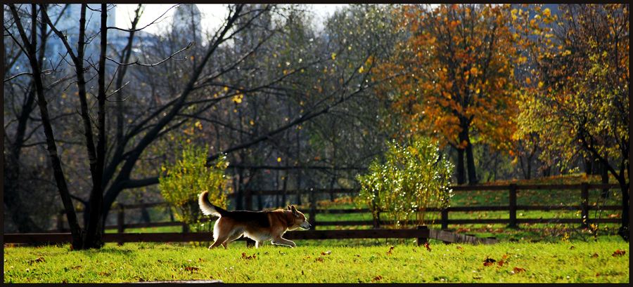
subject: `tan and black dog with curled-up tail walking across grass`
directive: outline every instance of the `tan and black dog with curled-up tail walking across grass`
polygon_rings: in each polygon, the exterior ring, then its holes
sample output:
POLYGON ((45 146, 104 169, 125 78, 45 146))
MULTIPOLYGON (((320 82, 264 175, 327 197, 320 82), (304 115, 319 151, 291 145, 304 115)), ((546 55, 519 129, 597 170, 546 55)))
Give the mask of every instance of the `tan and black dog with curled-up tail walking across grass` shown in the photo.
POLYGON ((219 219, 213 227, 215 242, 209 248, 216 248, 220 244, 226 249, 226 244, 240 238, 242 235, 255 240, 255 248, 259 248, 265 241, 275 245, 297 247, 293 241, 281 237, 286 231, 298 228, 309 229, 310 224, 305 215, 297 211, 295 206, 288 206, 287 210, 276 211, 226 211, 213 205, 207 198, 209 192, 198 196, 198 205, 204 215, 216 215, 219 219))

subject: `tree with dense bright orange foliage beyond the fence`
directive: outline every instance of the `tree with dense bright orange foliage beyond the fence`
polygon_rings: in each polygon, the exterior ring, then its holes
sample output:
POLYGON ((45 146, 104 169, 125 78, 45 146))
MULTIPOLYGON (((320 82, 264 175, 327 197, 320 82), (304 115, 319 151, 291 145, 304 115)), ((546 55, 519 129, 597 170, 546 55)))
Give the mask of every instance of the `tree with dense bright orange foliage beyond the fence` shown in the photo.
POLYGON ((513 58, 509 6, 442 4, 402 7, 409 39, 382 65, 397 76, 378 93, 390 101, 388 124, 457 151, 457 182, 478 182, 473 145, 508 150, 513 133, 513 58), (466 156, 466 159, 464 159, 466 156))

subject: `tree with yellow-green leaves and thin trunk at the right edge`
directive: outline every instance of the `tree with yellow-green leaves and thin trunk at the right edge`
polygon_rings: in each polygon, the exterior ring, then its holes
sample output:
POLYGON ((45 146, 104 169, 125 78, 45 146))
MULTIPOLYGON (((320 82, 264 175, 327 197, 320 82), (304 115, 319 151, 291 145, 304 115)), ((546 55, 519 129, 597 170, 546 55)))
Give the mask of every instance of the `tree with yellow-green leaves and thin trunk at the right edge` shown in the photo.
POLYGON ((521 95, 519 134, 538 133, 542 158, 596 159, 620 183, 629 239, 629 5, 542 6, 511 12, 535 68, 521 95))

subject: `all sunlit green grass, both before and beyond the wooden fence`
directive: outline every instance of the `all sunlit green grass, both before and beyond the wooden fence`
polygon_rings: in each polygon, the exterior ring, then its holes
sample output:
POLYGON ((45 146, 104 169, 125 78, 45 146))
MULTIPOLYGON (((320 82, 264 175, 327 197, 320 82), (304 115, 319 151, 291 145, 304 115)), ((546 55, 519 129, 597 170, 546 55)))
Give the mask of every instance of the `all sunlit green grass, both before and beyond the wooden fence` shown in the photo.
MULTIPOLYGON (((567 176, 518 184, 599 182, 567 176)), ((506 184, 507 182, 497 182, 506 184)), ((618 205, 619 190, 607 205, 618 205)), ((452 206, 507 205, 507 192, 456 192, 452 206)), ((589 203, 599 201, 599 191, 589 203)), ((580 191, 520 192, 519 205, 577 205, 580 191)), ((603 201, 601 202, 603 203, 603 201)), ((307 213, 308 206, 300 206, 307 213)), ((353 198, 320 201, 319 208, 364 208, 353 198)), ((618 211, 602 218, 619 218, 618 211)), ((596 213, 589 213, 595 218, 596 213)), ((508 218, 506 211, 450 213, 449 218, 508 218)), ((207 250, 208 243, 107 243, 99 251, 64 246, 4 247, 4 283, 117 283, 168 280, 222 280, 225 283, 629 283, 629 243, 615 235, 618 224, 601 224, 597 241, 588 229, 558 224, 577 211, 520 211, 518 218, 546 218, 549 224, 449 225, 460 234, 496 236, 491 246, 445 245, 430 239, 430 250, 414 239, 297 240, 298 248, 207 250), (391 248, 394 246, 393 248, 391 248), (494 260, 494 262, 493 262, 494 260)), ((317 220, 371 220, 369 213, 317 215, 317 220)), ((437 222, 435 222, 437 223, 437 222)), ((364 229, 333 226, 319 229, 364 229)), ((440 225, 430 225, 440 229, 440 225)), ((115 230, 108 230, 115 232, 115 230)), ((126 232, 181 232, 181 227, 126 229, 126 232)))

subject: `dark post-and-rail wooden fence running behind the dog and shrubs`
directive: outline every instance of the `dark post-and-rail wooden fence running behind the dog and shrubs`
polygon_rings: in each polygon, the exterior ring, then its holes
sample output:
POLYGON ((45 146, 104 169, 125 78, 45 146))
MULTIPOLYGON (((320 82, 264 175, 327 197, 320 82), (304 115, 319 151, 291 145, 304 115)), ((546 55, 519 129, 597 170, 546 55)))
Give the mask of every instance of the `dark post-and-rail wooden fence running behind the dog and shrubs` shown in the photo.
MULTIPOLYGON (((589 218, 589 211, 597 208, 602 208, 606 211, 618 211, 622 209, 622 206, 593 206, 589 203, 589 190, 590 189, 611 189, 619 188, 617 184, 589 184, 582 183, 578 185, 494 185, 494 186, 456 186, 452 187, 453 191, 460 192, 475 192, 475 191, 507 191, 509 196, 509 202, 507 206, 450 206, 444 209, 428 208, 427 211, 440 213, 441 229, 448 229, 449 225, 463 225, 463 224, 507 224, 508 227, 518 227, 520 223, 578 223, 581 226, 590 225, 594 220, 589 218), (550 205, 550 206, 520 206, 517 205, 517 192, 521 190, 577 190, 580 191, 578 196, 578 203, 574 206, 565 205, 550 205), (517 218, 517 211, 556 211, 556 210, 573 210, 580 211, 580 218, 517 218), (508 211, 509 218, 507 219, 449 219, 450 213, 458 212, 472 212, 472 211, 508 211), (584 220, 583 220, 584 219, 584 220)), ((358 226, 369 225, 375 228, 380 227, 384 222, 380 219, 381 213, 378 212, 378 220, 347 220, 347 221, 319 221, 317 220, 318 214, 334 213, 334 214, 347 214, 347 213, 371 213, 369 209, 316 209, 317 194, 355 194, 358 189, 309 189, 307 191, 290 190, 286 191, 286 195, 299 194, 305 192, 309 196, 310 207, 308 211, 304 211, 308 214, 308 220, 313 227, 313 230, 319 226, 358 226)), ((245 201, 245 209, 252 210, 252 202, 254 196, 267 196, 267 195, 281 195, 279 191, 245 191, 243 192, 243 198, 245 201)), ((236 194, 228 194, 227 198, 236 198, 236 194)), ((331 198, 333 198, 331 196, 331 198)), ((125 229, 139 228, 139 227, 163 227, 163 226, 181 226, 183 232, 188 232, 188 227, 182 222, 150 222, 150 223, 125 223, 125 211, 137 208, 153 208, 157 206, 167 206, 166 203, 142 203, 133 205, 119 205, 117 210, 117 225, 108 225, 106 229, 117 229, 117 232, 123 233, 125 229)), ((208 220, 208 218, 207 218, 208 220)), ((215 220, 215 218, 211 218, 215 220)), ((621 218, 601 218, 600 222, 621 222, 621 218)), ((58 215, 58 228, 56 232, 66 232, 69 229, 64 227, 65 216, 63 212, 58 215)), ((414 222, 409 222, 414 224, 414 222)))

